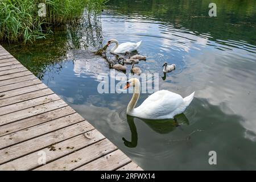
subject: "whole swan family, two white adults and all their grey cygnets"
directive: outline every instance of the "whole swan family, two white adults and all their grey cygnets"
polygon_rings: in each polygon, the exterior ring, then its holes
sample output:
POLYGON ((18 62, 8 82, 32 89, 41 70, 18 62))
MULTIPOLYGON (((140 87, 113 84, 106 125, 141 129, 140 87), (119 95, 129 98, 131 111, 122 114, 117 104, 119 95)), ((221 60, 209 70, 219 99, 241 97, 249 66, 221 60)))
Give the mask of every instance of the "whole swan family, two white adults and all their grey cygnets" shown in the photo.
MULTIPOLYGON (((114 43, 115 46, 110 50, 111 53, 125 53, 128 58, 119 57, 118 64, 114 64, 113 61, 110 62, 110 68, 117 69, 118 71, 126 71, 125 64, 132 64, 131 72, 135 75, 141 75, 142 71, 140 68, 135 67, 136 63, 141 60, 146 60, 146 56, 134 55, 130 56, 130 52, 136 51, 139 46, 141 46, 142 41, 137 43, 126 42, 119 44, 115 39, 110 39, 106 46, 114 43)), ((164 74, 172 72, 175 70, 176 65, 168 65, 167 62, 163 64, 164 74)), ((191 104, 195 92, 191 93, 189 96, 183 98, 180 94, 170 92, 168 90, 159 90, 151 94, 146 100, 142 102, 141 105, 135 107, 137 101, 139 100, 141 92, 141 82, 138 78, 131 78, 126 82, 126 86, 123 89, 133 87, 133 97, 127 106, 126 113, 133 117, 144 118, 144 119, 171 119, 175 115, 181 114, 187 109, 191 104)))

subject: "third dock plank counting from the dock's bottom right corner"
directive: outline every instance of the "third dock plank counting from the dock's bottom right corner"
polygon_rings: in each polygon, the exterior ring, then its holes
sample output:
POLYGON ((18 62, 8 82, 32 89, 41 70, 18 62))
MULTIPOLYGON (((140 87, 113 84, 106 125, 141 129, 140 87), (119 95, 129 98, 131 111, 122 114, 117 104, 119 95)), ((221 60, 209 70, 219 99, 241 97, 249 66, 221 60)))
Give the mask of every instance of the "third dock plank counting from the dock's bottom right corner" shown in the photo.
POLYGON ((57 159, 52 163, 36 168, 35 170, 73 170, 85 163, 91 162, 114 150, 117 150, 117 147, 114 146, 114 144, 111 143, 108 139, 104 139, 88 147, 82 148, 81 150, 78 150, 75 153, 57 159))

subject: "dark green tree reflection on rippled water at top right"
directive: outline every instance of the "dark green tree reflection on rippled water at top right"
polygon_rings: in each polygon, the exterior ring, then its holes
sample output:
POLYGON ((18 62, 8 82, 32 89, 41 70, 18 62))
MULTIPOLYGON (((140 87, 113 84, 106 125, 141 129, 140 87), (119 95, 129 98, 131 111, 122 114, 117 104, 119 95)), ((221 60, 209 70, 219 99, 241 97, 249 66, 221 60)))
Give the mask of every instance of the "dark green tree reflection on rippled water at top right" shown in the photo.
MULTIPOLYGON (((240 40, 246 40, 249 44, 256 42, 256 37, 252 36, 255 32, 256 1, 214 1, 218 7, 217 18, 209 19, 208 5, 211 2, 210 0, 109 1, 109 9, 112 10, 109 17, 117 14, 121 19, 122 15, 125 15, 126 22, 133 22, 135 26, 140 22, 138 24, 138 27, 142 27, 140 30, 145 30, 144 22, 152 22, 166 27, 163 33, 167 34, 175 34, 175 29, 179 29, 180 32, 195 35, 194 38, 197 36, 209 40, 236 40, 240 44, 243 44, 240 40), (139 26, 140 24, 142 25, 139 26)), ((126 27, 129 26, 130 24, 127 24, 126 27)), ((180 40, 182 42, 182 39, 180 40)), ((250 46, 247 48, 250 51, 250 46)))

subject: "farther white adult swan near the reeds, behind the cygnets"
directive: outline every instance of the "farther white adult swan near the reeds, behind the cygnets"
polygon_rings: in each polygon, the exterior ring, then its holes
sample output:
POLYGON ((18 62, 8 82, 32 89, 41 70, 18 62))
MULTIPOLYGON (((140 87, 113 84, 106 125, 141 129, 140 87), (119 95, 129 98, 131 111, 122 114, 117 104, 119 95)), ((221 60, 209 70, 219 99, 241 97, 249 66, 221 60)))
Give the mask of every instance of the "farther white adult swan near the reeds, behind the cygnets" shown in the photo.
POLYGON ((115 47, 113 47, 110 51, 111 53, 125 53, 126 51, 133 52, 137 50, 139 46, 141 46, 141 41, 137 43, 126 42, 119 44, 117 40, 110 39, 107 45, 109 46, 111 43, 115 43, 115 47))

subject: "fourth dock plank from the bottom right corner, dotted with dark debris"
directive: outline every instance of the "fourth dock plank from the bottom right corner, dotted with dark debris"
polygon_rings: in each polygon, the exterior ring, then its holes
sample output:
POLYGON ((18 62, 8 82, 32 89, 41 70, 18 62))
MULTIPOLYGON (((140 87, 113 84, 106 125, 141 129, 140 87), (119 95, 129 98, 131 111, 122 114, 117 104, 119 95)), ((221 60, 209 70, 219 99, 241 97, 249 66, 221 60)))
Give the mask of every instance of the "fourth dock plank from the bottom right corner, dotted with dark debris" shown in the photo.
MULTIPOLYGON (((43 148, 40 152, 46 152, 47 160, 46 163, 52 162, 53 160, 61 158, 61 156, 65 156, 80 150, 90 144, 96 143, 99 140, 104 139, 105 137, 98 132, 96 129, 92 131, 88 131, 84 134, 80 134, 77 137, 70 138, 68 140, 64 140, 63 142, 56 143, 52 146, 56 150, 50 150, 51 148, 43 148), (84 135, 89 137, 84 137, 84 135)), ((30 170, 36 167, 40 167, 41 165, 38 163, 39 159, 39 151, 33 152, 32 154, 28 154, 23 156, 22 158, 18 158, 9 163, 5 163, 0 166, 0 170, 30 170)), ((75 161, 74 161, 75 162, 75 161)), ((66 170, 64 167, 60 170, 66 170)))

